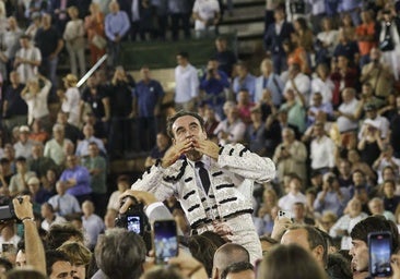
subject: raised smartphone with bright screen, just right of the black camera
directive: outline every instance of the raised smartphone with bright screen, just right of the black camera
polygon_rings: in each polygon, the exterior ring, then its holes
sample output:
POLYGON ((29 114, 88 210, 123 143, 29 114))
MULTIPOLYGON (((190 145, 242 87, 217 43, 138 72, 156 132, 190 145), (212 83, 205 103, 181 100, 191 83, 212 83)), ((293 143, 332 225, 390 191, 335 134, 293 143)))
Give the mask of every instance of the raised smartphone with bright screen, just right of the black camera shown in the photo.
POLYGON ((155 264, 163 265, 178 255, 178 238, 175 220, 157 220, 153 223, 155 264))

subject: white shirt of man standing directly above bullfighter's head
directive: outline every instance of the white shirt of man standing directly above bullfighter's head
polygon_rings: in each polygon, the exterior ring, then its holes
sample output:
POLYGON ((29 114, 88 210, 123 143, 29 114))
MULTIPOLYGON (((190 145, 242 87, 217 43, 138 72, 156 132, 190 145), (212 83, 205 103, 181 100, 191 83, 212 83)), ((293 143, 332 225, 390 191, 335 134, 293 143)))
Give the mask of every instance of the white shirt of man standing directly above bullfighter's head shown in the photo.
POLYGON ((175 102, 187 102, 199 95, 199 77, 191 64, 175 68, 175 102))

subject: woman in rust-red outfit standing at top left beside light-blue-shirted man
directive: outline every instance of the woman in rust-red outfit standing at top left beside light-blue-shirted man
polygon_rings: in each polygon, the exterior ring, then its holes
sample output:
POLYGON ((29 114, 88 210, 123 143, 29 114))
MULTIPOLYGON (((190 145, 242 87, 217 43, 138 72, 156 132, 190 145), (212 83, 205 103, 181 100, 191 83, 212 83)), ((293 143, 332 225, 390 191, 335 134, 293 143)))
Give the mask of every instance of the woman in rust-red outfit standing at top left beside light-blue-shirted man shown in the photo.
POLYGON ((90 12, 85 17, 84 27, 91 51, 91 65, 94 65, 106 53, 105 26, 104 14, 97 3, 91 3, 90 12))

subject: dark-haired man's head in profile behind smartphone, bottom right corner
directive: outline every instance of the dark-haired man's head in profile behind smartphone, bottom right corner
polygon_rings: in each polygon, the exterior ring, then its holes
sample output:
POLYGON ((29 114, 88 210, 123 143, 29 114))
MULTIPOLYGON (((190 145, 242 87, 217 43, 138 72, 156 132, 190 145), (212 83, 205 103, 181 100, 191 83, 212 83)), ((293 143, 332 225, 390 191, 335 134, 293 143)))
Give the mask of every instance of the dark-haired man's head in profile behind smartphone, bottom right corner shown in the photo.
MULTIPOLYGON (((354 226, 353 230, 350 233, 352 238, 352 247, 350 248, 349 254, 352 256, 352 268, 354 274, 360 275, 357 278, 366 278, 369 276, 369 270, 374 270, 370 268, 372 258, 370 256, 374 254, 374 246, 368 245, 368 235, 374 233, 377 235, 381 233, 381 235, 389 234, 391 250, 389 254, 398 251, 399 247, 399 232, 396 225, 392 221, 387 220, 384 216, 372 216, 354 226)), ((370 236, 369 236, 370 239, 370 236)), ((369 241, 369 244, 370 241, 369 241)), ((388 245, 390 247, 390 245, 388 245)), ((386 251, 386 253, 388 253, 386 251)), ((375 254, 385 254, 383 251, 376 252, 375 254)), ((387 265, 390 265, 390 258, 388 259, 387 265)), ((387 274, 387 277, 390 277, 391 272, 387 274)), ((381 277, 380 275, 377 277, 381 277)))

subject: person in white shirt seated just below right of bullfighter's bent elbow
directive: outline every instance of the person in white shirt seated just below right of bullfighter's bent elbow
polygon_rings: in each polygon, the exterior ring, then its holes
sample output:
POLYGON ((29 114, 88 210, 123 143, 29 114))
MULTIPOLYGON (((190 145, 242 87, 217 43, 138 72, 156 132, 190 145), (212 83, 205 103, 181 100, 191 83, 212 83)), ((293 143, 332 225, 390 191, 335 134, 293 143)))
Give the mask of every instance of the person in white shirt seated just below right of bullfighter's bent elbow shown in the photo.
POLYGON ((291 174, 289 182, 289 192, 286 195, 282 196, 279 202, 279 208, 293 213, 293 205, 295 203, 306 204, 306 196, 301 192, 302 181, 296 174, 291 174))

